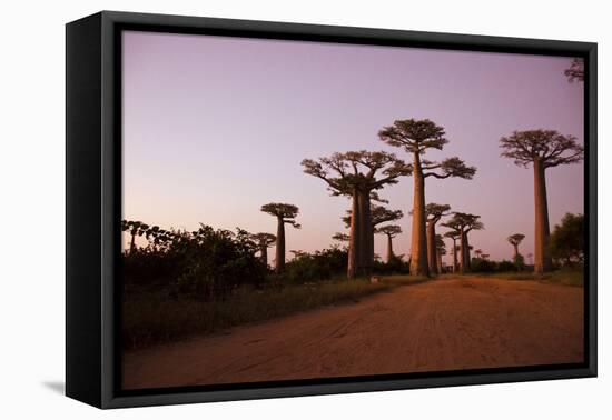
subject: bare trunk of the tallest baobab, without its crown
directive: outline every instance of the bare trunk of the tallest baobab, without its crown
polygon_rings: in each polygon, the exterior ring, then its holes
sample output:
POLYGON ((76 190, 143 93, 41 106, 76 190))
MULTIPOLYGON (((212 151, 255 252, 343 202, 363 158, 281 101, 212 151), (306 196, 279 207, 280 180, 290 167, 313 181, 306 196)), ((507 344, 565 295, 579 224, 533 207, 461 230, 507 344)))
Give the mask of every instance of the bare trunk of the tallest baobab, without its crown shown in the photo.
POLYGON ((430 276, 427 269, 427 236, 425 228, 425 177, 421 154, 414 152, 414 201, 412 214, 411 274, 430 276))

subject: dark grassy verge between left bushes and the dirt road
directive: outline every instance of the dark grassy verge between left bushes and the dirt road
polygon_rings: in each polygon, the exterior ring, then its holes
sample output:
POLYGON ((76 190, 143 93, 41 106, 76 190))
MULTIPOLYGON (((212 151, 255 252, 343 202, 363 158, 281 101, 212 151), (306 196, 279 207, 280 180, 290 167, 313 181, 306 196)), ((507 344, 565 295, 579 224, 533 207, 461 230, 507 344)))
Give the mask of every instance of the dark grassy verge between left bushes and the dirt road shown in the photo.
POLYGON ((377 283, 359 279, 287 286, 282 289, 245 288, 220 302, 170 299, 165 290, 126 289, 122 306, 124 348, 146 348, 328 304, 357 302, 359 298, 373 293, 425 280, 419 277, 386 276, 381 277, 377 283))

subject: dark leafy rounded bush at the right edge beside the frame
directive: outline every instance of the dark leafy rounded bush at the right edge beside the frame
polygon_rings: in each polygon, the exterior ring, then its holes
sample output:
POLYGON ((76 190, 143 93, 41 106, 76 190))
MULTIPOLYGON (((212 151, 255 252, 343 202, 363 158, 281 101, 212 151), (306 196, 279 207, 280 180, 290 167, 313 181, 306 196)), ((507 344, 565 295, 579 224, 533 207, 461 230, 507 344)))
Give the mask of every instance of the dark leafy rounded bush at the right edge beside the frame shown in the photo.
POLYGON ((566 213, 551 234, 551 256, 565 266, 584 262, 584 216, 566 213))

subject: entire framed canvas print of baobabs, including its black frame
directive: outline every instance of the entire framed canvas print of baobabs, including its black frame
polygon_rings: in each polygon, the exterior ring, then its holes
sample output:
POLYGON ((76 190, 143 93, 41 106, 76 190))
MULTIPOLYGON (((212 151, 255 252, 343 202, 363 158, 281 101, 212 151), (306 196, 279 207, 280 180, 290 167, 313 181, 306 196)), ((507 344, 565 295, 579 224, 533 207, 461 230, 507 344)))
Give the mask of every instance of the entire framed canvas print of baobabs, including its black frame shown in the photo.
POLYGON ((596 376, 596 44, 67 24, 66 392, 596 376))

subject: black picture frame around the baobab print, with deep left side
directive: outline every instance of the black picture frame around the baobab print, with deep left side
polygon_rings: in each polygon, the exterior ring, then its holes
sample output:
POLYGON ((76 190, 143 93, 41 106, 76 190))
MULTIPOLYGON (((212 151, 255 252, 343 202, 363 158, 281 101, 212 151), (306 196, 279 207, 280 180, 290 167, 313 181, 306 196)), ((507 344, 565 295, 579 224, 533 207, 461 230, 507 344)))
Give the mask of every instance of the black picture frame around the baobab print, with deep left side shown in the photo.
POLYGON ((66 393, 98 408, 596 376, 596 43, 102 11, 66 27, 66 393), (585 62, 585 362, 146 391, 119 388, 120 32, 223 34, 581 57, 585 62))

